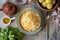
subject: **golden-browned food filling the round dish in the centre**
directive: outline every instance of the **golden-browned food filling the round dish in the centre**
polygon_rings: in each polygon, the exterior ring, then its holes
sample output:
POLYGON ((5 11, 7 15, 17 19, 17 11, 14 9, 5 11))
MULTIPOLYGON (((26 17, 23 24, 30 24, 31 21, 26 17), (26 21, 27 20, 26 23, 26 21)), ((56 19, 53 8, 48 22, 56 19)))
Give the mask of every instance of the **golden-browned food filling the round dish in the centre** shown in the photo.
POLYGON ((33 32, 40 27, 41 17, 37 12, 29 9, 22 12, 19 22, 24 30, 33 32))

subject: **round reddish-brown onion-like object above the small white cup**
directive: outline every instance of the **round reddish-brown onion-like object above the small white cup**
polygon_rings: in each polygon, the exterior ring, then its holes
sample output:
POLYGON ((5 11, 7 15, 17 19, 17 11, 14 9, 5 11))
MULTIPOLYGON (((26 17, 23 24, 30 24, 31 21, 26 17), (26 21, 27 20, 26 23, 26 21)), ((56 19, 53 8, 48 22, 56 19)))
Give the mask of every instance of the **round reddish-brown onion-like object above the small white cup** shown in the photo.
POLYGON ((0 10, 2 10, 8 16, 13 16, 17 12, 17 7, 11 2, 6 2, 3 4, 2 9, 0 10))

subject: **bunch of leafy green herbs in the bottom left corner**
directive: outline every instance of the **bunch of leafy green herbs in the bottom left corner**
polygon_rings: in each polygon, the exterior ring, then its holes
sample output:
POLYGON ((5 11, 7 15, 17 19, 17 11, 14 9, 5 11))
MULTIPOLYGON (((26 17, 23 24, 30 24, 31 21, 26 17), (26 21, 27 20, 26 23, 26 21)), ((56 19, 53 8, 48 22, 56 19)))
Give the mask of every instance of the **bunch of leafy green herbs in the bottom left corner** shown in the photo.
POLYGON ((0 40, 22 40, 23 37, 24 33, 19 32, 17 27, 0 28, 0 40))

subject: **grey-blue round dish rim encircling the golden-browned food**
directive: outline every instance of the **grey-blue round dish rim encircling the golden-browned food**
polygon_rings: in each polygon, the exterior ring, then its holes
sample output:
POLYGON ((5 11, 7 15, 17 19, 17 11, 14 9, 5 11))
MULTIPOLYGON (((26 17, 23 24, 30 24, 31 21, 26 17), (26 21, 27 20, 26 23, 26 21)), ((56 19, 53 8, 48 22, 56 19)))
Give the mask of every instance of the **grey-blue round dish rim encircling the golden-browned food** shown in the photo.
POLYGON ((20 13, 20 14, 19 14, 19 17, 17 17, 18 28, 19 28, 19 30, 20 30, 21 32, 25 33, 26 35, 35 34, 35 33, 39 32, 39 31, 42 29, 42 27, 43 27, 43 26, 42 26, 42 25, 43 25, 43 17, 42 17, 41 12, 40 12, 39 10, 37 10, 36 8, 32 8, 32 7, 25 8, 25 9, 22 10, 22 12, 25 11, 25 10, 29 10, 29 9, 37 12, 38 15, 41 17, 41 25, 40 25, 40 27, 39 27, 36 31, 33 31, 33 32, 27 32, 27 31, 25 31, 25 30, 21 27, 21 25, 19 24, 19 18, 21 17, 21 14, 22 14, 22 13, 19 11, 19 12, 18 12, 18 13, 20 13))

